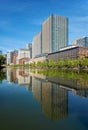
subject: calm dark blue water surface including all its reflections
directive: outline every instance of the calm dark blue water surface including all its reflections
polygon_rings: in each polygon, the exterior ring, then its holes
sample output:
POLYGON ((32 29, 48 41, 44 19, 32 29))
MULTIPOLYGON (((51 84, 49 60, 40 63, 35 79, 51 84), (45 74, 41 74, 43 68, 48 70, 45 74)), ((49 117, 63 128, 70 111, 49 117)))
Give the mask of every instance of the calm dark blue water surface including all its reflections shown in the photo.
POLYGON ((0 130, 88 130, 88 75, 0 72, 0 130))

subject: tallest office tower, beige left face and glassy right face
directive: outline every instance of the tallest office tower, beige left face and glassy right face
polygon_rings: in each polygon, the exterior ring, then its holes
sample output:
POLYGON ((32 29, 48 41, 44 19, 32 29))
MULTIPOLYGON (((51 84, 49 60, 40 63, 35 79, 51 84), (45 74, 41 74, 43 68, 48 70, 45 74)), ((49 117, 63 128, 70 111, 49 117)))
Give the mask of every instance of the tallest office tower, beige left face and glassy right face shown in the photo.
POLYGON ((42 53, 52 53, 68 45, 68 18, 51 15, 42 23, 42 53))

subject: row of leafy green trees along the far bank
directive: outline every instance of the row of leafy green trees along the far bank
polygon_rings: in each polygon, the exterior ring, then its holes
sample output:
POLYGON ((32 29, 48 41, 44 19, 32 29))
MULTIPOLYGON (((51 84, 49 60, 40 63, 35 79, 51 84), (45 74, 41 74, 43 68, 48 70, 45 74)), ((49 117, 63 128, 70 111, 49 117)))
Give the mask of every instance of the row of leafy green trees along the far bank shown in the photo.
POLYGON ((57 67, 57 68, 61 68, 61 67, 67 67, 67 68, 87 68, 88 67, 88 58, 82 58, 82 59, 60 59, 58 61, 44 61, 44 62, 38 62, 37 64, 34 63, 30 63, 31 67, 57 67))

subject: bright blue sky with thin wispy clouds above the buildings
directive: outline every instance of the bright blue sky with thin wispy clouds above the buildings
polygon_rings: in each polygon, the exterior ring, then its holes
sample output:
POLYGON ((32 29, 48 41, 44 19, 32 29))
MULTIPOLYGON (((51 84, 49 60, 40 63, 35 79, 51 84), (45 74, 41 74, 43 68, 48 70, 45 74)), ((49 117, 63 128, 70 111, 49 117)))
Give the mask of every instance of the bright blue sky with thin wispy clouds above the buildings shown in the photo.
POLYGON ((0 0, 0 50, 25 48, 51 14, 68 17, 68 44, 88 36, 88 0, 0 0))

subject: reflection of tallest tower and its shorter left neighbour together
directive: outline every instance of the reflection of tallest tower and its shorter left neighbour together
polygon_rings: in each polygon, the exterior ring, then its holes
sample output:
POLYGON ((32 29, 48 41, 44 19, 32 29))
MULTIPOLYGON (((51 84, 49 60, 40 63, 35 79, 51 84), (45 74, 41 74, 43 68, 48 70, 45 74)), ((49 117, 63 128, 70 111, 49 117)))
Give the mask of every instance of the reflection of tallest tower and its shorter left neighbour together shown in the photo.
POLYGON ((57 84, 32 78, 32 91, 34 98, 41 103, 42 112, 52 120, 67 117, 68 95, 67 90, 57 84))

